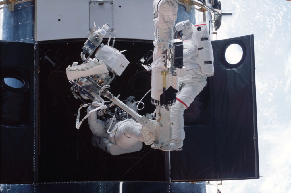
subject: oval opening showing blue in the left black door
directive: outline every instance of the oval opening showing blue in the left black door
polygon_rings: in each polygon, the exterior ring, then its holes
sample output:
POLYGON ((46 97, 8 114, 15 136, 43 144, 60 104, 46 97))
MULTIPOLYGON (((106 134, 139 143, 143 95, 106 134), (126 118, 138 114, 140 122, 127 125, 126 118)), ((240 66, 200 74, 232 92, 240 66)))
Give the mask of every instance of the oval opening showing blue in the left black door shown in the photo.
POLYGON ((11 92, 24 92, 29 88, 29 83, 25 77, 7 74, 1 78, 1 87, 11 92))

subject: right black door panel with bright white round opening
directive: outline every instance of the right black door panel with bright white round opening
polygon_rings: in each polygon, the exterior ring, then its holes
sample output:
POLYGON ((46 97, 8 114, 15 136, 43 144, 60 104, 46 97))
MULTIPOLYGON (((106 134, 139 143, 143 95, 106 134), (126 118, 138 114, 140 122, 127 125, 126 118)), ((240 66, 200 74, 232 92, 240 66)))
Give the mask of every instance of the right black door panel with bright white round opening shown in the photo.
POLYGON ((253 35, 212 41, 212 48, 214 76, 185 111, 183 150, 171 152, 172 181, 259 178, 253 35), (225 58, 231 44, 242 48, 236 64, 225 58))

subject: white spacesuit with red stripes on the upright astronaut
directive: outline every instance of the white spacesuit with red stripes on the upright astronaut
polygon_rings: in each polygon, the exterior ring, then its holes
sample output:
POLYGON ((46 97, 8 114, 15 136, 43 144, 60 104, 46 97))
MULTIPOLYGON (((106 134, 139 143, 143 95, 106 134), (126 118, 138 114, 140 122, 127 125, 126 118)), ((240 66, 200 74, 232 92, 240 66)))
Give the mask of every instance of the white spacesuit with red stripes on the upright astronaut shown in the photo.
MULTIPOLYGON (((178 77, 179 84, 183 85, 180 91, 178 92, 176 98, 177 101, 175 105, 171 107, 170 119, 173 123, 172 126, 172 141, 167 146, 169 150, 175 150, 181 148, 183 146, 183 140, 185 138, 184 132, 184 110, 187 109, 190 104, 193 102, 194 98, 202 91, 202 89, 206 86, 206 78, 207 76, 213 75, 213 53, 210 43, 210 37, 208 34, 208 30, 206 28, 206 24, 198 24, 194 25, 190 23, 189 20, 179 22, 175 26, 178 38, 183 40, 183 63, 184 67, 187 69, 187 73, 185 76, 178 77), (207 38, 207 46, 204 46, 204 52, 207 50, 210 52, 211 67, 209 68, 206 66, 207 69, 205 73, 202 73, 201 68, 205 68, 204 61, 205 58, 202 56, 203 54, 199 54, 198 50, 202 50, 203 48, 198 46, 201 43, 201 36, 200 31, 201 27, 197 29, 197 26, 203 25, 203 35, 204 38, 207 38), (206 33, 205 33, 206 29, 206 33), (196 33, 198 32, 198 34, 196 33), (207 49, 206 49, 207 47, 207 49), (200 49, 198 49, 200 48, 200 49), (208 49, 209 48, 209 49, 208 49), (203 64, 201 63, 203 62, 203 64), (211 71, 211 72, 210 72, 211 71)), ((204 42, 203 42, 204 43, 204 42)), ((210 63, 210 61, 208 63, 210 63)))

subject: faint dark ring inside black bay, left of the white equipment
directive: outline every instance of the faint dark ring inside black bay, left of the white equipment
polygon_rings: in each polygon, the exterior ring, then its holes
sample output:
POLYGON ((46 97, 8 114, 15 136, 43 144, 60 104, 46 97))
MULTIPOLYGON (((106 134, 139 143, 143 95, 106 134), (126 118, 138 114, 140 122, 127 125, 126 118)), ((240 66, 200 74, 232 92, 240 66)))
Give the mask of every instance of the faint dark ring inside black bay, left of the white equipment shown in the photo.
POLYGON ((49 88, 57 95, 69 96, 72 94, 70 91, 71 85, 67 78, 67 74, 63 71, 54 71, 48 77, 49 88))

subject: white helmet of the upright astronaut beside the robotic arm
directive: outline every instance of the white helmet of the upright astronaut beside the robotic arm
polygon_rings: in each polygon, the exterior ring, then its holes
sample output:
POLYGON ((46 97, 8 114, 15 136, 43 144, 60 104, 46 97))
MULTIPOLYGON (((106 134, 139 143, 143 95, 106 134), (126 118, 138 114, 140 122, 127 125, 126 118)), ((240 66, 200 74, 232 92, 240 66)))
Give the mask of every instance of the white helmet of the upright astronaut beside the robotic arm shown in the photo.
POLYGON ((192 24, 189 20, 178 22, 175 25, 176 30, 174 33, 174 38, 181 40, 189 39, 193 33, 193 29, 191 26, 192 24))

